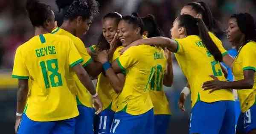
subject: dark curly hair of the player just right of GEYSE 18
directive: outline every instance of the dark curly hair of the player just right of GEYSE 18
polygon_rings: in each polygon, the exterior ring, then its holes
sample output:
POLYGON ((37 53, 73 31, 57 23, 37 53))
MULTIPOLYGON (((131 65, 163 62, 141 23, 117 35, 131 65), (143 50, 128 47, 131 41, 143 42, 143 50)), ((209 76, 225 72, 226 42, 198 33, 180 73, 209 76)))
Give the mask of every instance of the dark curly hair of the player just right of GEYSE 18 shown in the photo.
POLYGON ((83 20, 99 13, 96 0, 56 0, 59 11, 63 9, 64 20, 74 20, 81 16, 83 20))

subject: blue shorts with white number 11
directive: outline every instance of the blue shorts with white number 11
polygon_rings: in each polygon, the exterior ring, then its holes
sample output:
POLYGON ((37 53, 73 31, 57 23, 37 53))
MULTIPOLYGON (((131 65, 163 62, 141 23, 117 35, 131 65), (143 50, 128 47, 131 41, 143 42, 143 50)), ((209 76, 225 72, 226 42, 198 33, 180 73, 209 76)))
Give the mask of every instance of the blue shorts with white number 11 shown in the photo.
POLYGON ((103 110, 94 117, 94 134, 109 134, 115 112, 111 109, 103 110))

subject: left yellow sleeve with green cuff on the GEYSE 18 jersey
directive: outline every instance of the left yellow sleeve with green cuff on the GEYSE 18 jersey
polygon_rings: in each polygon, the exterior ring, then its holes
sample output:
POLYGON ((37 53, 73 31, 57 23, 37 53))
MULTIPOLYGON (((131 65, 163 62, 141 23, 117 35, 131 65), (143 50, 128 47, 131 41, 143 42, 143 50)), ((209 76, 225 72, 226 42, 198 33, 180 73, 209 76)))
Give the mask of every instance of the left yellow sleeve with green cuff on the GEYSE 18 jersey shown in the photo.
POLYGON ((29 71, 24 63, 24 57, 20 52, 20 47, 17 48, 14 58, 14 65, 12 71, 12 77, 17 79, 29 79, 29 71))

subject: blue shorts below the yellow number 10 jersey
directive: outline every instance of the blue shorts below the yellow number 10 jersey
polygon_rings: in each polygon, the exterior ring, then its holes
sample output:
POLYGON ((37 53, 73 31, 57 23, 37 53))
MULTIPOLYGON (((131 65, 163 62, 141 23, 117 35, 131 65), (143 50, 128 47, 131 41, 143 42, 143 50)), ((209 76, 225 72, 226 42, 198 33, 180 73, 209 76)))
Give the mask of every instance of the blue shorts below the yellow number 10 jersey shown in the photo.
POLYGON ((171 115, 154 115, 154 134, 167 134, 171 115))

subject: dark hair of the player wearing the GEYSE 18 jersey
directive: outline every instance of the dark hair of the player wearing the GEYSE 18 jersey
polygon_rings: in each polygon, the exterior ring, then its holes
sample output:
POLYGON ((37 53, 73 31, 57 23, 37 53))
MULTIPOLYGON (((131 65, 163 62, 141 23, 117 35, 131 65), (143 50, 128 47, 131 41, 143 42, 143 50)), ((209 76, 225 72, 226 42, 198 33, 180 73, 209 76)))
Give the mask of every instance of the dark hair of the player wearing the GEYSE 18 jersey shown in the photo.
POLYGON ((34 27, 44 26, 44 23, 50 20, 52 16, 51 7, 47 4, 39 3, 38 0, 28 0, 26 11, 34 27))

